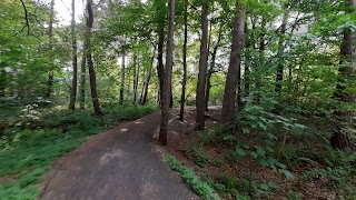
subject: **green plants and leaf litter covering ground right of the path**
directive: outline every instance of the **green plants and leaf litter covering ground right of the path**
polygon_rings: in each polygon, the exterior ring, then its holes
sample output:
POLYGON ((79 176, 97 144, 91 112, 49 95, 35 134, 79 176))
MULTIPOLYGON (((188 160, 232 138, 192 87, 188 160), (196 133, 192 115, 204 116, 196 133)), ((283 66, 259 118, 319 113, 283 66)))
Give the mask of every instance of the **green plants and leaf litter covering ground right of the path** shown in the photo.
POLYGON ((356 199, 356 154, 332 148, 328 112, 299 110, 246 104, 233 126, 210 121, 171 141, 179 161, 167 160, 189 166, 222 199, 356 199))

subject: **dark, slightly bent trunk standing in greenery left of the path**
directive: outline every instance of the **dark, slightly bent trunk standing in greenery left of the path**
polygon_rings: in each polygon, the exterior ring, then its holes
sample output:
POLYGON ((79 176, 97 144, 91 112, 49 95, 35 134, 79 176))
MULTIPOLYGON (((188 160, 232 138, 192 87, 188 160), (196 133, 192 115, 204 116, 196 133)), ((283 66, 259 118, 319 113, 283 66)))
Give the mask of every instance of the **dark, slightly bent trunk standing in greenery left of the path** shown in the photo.
POLYGON ((91 91, 91 99, 95 112, 97 116, 101 114, 98 91, 97 91, 97 77, 96 71, 93 69, 92 58, 91 58, 91 28, 93 23, 93 14, 92 14, 92 0, 87 0, 87 10, 88 10, 88 19, 87 19, 87 44, 88 44, 88 52, 87 52, 87 61, 89 67, 89 79, 90 79, 90 91, 91 91))

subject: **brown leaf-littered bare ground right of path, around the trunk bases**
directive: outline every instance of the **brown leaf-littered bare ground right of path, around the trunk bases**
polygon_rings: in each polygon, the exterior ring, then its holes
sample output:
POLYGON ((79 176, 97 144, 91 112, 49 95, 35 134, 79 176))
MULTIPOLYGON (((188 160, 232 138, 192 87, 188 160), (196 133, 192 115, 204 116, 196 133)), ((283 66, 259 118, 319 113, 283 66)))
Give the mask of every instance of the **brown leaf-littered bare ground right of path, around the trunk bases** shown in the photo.
MULTIPOLYGON (((194 124, 195 109, 190 108, 186 111, 185 124, 194 124)), ((343 199, 335 191, 330 190, 327 186, 327 180, 323 177, 317 180, 305 181, 303 179, 303 172, 317 168, 320 164, 318 162, 307 163, 299 162, 295 166, 288 166, 288 169, 293 172, 293 179, 285 179, 275 170, 259 166, 256 161, 249 163, 248 157, 240 160, 231 161, 229 153, 235 151, 230 146, 215 146, 204 140, 211 140, 206 137, 207 134, 214 136, 214 130, 218 127, 218 119, 220 116, 220 109, 215 107, 206 112, 206 130, 196 131, 181 129, 181 124, 178 120, 170 120, 168 134, 168 146, 162 148, 166 152, 175 156, 180 160, 184 166, 187 166, 201 177, 202 181, 215 182, 224 184, 224 189, 217 191, 221 199, 236 199, 231 189, 241 190, 240 180, 249 180, 249 176, 253 176, 254 181, 258 182, 256 189, 253 191, 250 199, 318 199, 318 200, 334 200, 343 199), (176 122, 175 122, 176 121, 176 122), (179 130, 182 130, 179 132, 179 130), (250 173, 249 169, 253 169, 250 173), (258 188, 264 183, 274 182, 277 183, 277 188, 258 188), (258 194, 256 194, 258 192, 258 194), (296 197, 298 194, 298 197, 296 197)), ((177 119, 177 117, 176 117, 177 119)), ((238 140, 241 142, 254 146, 248 137, 238 136, 238 140)), ((258 143, 264 146, 263 143, 258 143)), ((265 184, 266 186, 266 184, 265 184)), ((244 186, 243 186, 244 187, 244 186)), ((245 183, 245 191, 246 189, 245 183)), ((240 192, 240 191, 239 191, 240 192)), ((251 193, 245 193, 251 196, 251 193)))

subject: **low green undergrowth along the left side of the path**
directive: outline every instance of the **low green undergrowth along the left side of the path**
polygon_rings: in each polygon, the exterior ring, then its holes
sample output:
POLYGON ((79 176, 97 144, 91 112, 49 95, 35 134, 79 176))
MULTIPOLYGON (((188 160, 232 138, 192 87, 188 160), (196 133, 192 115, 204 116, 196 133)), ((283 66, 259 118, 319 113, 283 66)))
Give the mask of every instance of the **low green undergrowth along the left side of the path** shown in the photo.
POLYGON ((112 124, 157 110, 155 106, 111 106, 101 117, 89 110, 38 110, 27 106, 0 140, 0 199, 36 199, 41 174, 52 161, 112 124))

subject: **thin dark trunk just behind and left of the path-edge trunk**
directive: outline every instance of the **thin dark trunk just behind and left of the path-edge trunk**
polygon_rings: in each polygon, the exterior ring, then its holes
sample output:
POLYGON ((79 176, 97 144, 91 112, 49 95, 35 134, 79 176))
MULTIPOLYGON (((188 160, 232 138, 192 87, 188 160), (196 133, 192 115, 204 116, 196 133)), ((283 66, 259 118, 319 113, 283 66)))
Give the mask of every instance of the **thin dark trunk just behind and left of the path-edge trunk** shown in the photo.
POLYGON ((165 46, 165 26, 159 24, 158 28, 158 56, 157 56, 157 76, 159 82, 158 102, 161 107, 162 102, 162 88, 164 88, 164 46, 165 46))

